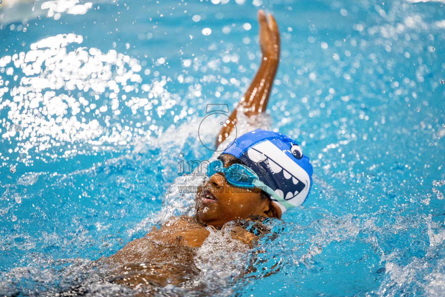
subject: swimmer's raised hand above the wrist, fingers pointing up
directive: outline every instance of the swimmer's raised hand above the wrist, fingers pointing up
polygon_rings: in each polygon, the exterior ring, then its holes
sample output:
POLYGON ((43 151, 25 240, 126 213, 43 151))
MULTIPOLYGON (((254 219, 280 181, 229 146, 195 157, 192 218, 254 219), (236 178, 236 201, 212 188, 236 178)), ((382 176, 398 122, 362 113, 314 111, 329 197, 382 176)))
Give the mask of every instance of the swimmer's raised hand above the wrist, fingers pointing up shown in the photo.
POLYGON ((261 9, 258 11, 259 45, 267 60, 279 60, 279 31, 275 18, 261 9))

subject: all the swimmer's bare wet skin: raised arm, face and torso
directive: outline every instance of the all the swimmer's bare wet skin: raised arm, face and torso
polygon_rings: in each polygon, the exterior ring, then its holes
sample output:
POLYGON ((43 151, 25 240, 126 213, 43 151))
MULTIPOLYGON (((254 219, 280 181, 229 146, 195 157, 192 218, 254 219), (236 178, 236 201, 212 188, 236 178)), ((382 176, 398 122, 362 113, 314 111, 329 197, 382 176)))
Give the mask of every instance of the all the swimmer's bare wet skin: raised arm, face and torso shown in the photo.
MULTIPOLYGON (((247 116, 266 110, 279 63, 279 31, 274 17, 266 16, 260 10, 258 22, 263 57, 251 86, 239 101, 247 116)), ((225 124, 219 132, 216 146, 227 138, 236 124, 236 112, 235 109, 231 114, 234 121, 225 124)), ((221 155, 221 159, 228 167, 235 157, 221 155)), ((159 229, 154 228, 143 238, 129 242, 116 254, 98 260, 111 265, 110 282, 143 288, 145 293, 137 295, 150 296, 156 286, 177 285, 198 274, 194 264, 195 249, 201 247, 209 236, 208 228, 224 228, 228 222, 251 216, 281 216, 279 207, 270 199, 263 199, 259 189, 239 191, 227 183, 223 173, 212 175, 203 186, 205 190, 198 191, 196 195, 197 212, 194 217, 173 217, 159 229)), ((251 247, 258 238, 240 225, 231 226, 230 234, 239 240, 239 244, 251 247)))

